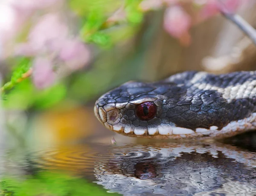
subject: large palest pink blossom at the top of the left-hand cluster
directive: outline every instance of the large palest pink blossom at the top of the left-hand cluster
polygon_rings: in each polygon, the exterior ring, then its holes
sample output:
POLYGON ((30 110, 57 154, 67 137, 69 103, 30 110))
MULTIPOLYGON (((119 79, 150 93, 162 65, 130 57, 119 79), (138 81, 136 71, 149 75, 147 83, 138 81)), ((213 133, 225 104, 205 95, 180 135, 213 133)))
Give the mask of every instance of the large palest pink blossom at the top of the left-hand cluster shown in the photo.
POLYGON ((29 43, 36 51, 42 50, 52 45, 52 42, 61 42, 67 35, 67 25, 60 20, 58 14, 46 14, 31 30, 29 43))

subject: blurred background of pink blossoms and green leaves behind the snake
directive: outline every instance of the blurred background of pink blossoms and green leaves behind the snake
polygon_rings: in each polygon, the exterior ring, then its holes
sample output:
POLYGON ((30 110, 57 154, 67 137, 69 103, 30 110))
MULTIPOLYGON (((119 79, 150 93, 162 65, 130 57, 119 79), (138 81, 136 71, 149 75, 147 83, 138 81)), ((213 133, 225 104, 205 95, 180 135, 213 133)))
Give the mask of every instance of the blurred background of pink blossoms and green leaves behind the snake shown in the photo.
POLYGON ((256 25, 254 0, 1 0, 1 144, 110 143, 93 113, 108 90, 255 70, 256 47, 223 10, 256 25))

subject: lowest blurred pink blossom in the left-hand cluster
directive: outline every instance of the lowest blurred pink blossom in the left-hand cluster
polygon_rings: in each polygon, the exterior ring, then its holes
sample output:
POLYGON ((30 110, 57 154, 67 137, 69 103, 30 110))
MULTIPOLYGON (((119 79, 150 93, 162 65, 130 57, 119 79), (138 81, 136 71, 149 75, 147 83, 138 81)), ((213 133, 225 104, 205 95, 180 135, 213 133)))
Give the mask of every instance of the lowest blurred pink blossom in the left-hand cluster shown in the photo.
POLYGON ((33 61, 33 83, 38 89, 51 86, 55 81, 52 62, 47 58, 37 57, 33 61))

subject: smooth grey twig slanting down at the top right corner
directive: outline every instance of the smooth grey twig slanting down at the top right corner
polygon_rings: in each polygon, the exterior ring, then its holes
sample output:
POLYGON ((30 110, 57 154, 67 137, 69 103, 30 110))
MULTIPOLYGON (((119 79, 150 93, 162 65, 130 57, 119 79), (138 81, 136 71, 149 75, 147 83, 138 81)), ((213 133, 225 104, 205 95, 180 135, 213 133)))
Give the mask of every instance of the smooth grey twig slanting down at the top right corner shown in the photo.
POLYGON ((228 12, 222 12, 222 15, 228 20, 231 20, 236 26, 239 27, 256 45, 256 29, 254 29, 249 23, 247 23, 242 17, 237 14, 231 14, 228 12))

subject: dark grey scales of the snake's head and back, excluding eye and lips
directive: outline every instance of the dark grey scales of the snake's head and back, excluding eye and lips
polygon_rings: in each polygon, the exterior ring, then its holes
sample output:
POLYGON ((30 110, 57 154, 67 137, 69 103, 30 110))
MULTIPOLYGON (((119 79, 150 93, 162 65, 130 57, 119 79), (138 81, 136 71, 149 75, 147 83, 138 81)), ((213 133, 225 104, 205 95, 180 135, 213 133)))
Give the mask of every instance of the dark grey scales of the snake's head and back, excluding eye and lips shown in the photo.
POLYGON ((120 122, 133 124, 135 127, 170 124, 191 130, 209 129, 211 126, 217 126, 221 130, 231 121, 247 118, 256 112, 256 96, 253 91, 256 87, 255 81, 256 72, 222 75, 183 72, 159 82, 122 84, 102 95, 96 105, 107 111, 107 105, 114 104, 120 109, 120 122), (208 88, 200 88, 201 84, 208 88), (235 94, 242 93, 243 97, 232 98, 228 90, 225 91, 236 86, 235 94), (223 89, 224 92, 218 89, 223 89), (154 102, 157 106, 156 116, 149 121, 140 120, 134 112, 136 104, 145 101, 154 102))

